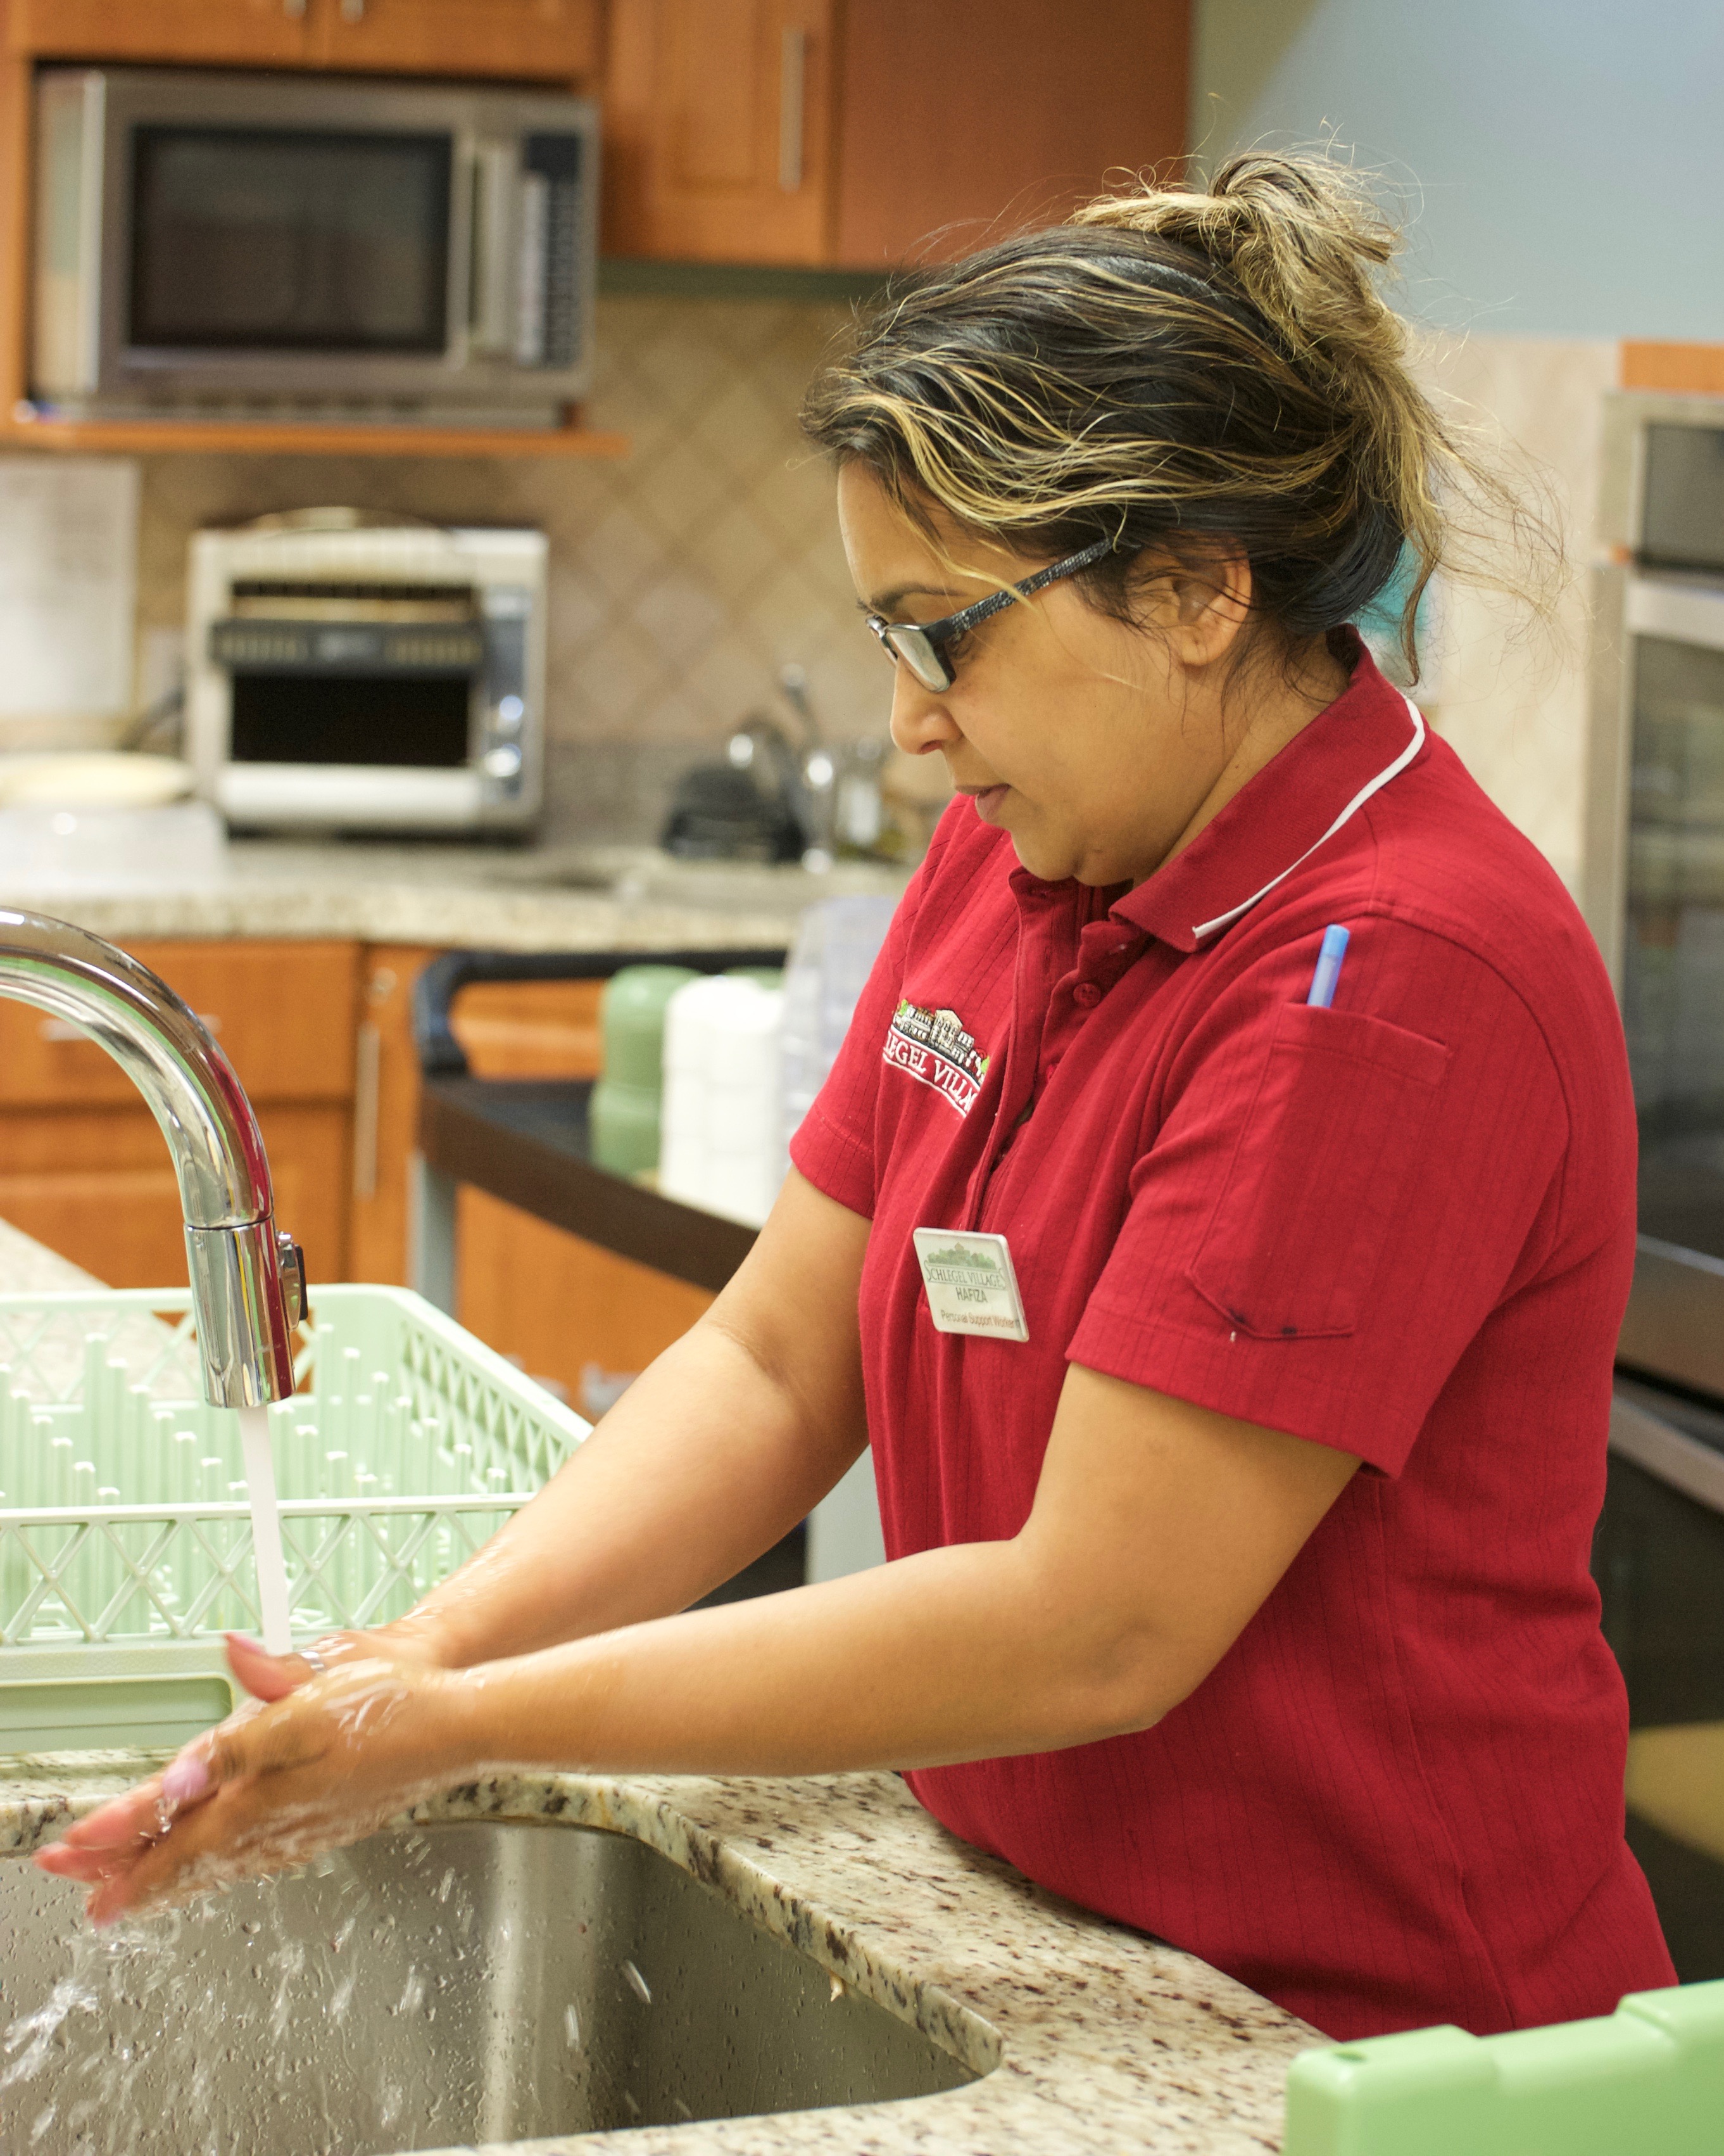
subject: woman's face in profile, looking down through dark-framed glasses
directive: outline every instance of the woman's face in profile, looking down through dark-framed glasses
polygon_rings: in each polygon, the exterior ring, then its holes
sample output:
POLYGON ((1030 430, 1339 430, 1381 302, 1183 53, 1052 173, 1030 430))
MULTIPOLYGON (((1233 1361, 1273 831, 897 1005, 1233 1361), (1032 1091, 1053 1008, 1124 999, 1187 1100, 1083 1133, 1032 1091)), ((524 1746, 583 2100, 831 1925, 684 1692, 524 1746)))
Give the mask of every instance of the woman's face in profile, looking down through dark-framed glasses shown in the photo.
MULTIPOLYGON (((838 524, 858 597, 888 621, 937 621, 1045 567, 942 526, 946 558, 974 571, 953 573, 860 464, 840 470, 838 524)), ((1336 692, 1302 696, 1297 722, 1280 711, 1267 748, 1267 711, 1224 714, 1224 660, 1248 604, 1243 561, 1200 582, 1149 582, 1149 634, 1097 612, 1075 582, 1052 584, 946 647, 953 688, 927 690, 899 666, 892 740, 907 755, 937 750, 1032 875, 1142 882, 1336 692), (1265 752, 1252 759, 1248 744, 1265 752), (1250 768, 1237 776, 1241 752, 1250 768)))

